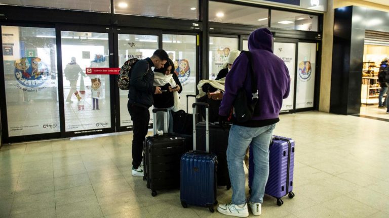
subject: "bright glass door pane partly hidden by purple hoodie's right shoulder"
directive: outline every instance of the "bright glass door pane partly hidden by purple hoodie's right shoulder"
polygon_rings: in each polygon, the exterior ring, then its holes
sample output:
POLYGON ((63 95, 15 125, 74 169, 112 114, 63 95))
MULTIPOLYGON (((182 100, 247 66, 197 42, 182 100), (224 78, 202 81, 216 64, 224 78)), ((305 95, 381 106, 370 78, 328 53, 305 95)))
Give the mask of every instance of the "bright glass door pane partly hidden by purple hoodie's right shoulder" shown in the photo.
POLYGON ((289 96, 282 101, 281 111, 293 110, 293 98, 294 98, 294 72, 296 62, 296 44, 295 43, 283 43, 275 42, 273 45, 274 54, 282 59, 288 68, 290 76, 290 92, 289 96))

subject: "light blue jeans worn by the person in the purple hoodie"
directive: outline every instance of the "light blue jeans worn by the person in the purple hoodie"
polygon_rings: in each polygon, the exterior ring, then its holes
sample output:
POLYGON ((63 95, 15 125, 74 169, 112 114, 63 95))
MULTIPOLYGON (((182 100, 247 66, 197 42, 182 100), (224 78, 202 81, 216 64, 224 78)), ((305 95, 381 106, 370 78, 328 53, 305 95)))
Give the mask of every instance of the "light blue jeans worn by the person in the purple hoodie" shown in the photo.
POLYGON ((246 203, 246 176, 243 160, 250 144, 253 146, 255 163, 250 201, 262 203, 269 176, 269 144, 275 127, 276 124, 255 128, 231 126, 228 137, 227 162, 233 190, 232 203, 238 205, 246 203))

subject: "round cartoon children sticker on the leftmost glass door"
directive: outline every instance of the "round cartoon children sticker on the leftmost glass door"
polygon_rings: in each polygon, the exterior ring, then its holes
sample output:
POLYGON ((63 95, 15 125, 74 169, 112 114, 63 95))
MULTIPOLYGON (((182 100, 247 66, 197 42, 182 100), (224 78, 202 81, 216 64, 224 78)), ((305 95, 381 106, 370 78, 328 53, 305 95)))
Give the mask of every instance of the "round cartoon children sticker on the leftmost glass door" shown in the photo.
POLYGON ((14 66, 16 80, 24 87, 42 86, 49 75, 49 68, 38 57, 18 59, 14 62, 14 66))

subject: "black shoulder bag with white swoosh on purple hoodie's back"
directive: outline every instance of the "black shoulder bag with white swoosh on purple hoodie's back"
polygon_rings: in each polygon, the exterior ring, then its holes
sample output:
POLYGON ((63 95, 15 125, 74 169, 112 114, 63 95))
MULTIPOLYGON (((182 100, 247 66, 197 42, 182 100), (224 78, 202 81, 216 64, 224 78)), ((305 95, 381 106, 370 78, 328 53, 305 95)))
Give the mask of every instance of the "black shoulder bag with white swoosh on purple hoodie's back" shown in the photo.
MULTIPOLYGON (((249 59, 249 71, 251 75, 251 99, 247 98, 246 89, 242 87, 234 100, 235 120, 244 123, 253 117, 255 105, 258 102, 257 78, 254 73, 253 59, 250 51, 242 51, 249 59)), ((245 81, 247 80, 247 76, 245 81)))

